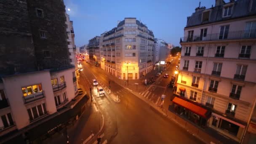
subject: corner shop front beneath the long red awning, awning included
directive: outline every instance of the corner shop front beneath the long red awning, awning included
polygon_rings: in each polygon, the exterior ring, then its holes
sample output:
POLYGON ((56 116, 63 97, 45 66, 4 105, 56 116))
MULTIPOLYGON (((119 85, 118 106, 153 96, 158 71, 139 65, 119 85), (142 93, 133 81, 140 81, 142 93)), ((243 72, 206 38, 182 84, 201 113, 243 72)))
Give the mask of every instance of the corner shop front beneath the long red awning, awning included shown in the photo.
POLYGON ((179 97, 175 97, 172 101, 174 104, 173 111, 176 114, 201 128, 205 128, 208 117, 211 115, 210 111, 179 97))

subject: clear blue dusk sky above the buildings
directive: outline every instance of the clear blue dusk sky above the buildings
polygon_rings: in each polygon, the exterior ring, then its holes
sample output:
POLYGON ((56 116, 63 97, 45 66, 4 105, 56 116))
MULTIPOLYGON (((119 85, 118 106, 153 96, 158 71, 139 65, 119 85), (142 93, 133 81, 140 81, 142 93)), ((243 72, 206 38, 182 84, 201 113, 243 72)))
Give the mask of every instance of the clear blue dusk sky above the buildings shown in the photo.
POLYGON ((215 0, 64 0, 66 12, 73 21, 77 47, 117 27, 117 21, 125 17, 141 20, 155 38, 180 46, 187 16, 195 12, 199 2, 206 8, 215 5, 215 0))

